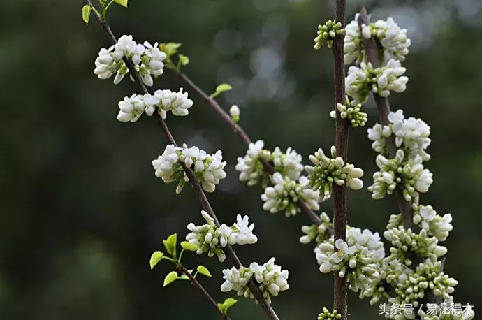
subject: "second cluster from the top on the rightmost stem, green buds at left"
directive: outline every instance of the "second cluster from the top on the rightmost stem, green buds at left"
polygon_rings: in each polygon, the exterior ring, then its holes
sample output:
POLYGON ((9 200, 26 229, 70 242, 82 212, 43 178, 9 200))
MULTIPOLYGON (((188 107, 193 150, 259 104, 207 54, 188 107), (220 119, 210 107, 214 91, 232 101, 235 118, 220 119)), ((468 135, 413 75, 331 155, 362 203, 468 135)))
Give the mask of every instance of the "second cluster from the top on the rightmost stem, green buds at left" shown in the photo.
POLYGON ((354 99, 351 101, 351 105, 365 103, 370 91, 383 97, 389 96, 390 91, 404 92, 409 81, 409 78, 403 75, 405 71, 406 69, 401 66, 400 61, 395 59, 391 59, 386 66, 381 68, 373 68, 370 62, 367 64, 362 62, 360 67, 349 67, 345 80, 345 91, 354 99))

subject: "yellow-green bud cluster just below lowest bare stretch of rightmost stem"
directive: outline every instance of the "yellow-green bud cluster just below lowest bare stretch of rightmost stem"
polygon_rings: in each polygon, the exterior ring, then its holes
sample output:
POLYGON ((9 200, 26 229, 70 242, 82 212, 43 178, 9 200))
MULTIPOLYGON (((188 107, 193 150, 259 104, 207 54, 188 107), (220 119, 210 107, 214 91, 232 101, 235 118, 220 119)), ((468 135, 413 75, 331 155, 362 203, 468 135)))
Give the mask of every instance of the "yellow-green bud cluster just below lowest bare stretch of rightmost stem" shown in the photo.
POLYGON ((400 262, 411 266, 411 255, 416 254, 424 258, 430 258, 434 261, 447 253, 447 248, 439 245, 439 240, 430 237, 425 230, 420 233, 414 233, 411 229, 404 226, 391 228, 384 232, 386 240, 390 241, 393 247, 390 247, 391 256, 400 262))

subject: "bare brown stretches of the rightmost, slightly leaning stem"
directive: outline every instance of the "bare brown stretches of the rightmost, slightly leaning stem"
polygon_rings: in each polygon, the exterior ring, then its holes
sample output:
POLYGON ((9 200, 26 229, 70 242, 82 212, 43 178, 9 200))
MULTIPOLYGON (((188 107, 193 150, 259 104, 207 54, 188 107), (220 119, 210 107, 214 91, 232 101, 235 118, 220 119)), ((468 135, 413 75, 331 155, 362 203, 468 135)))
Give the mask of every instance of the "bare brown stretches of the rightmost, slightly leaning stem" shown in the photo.
MULTIPOLYGON (((360 15, 358 16, 358 27, 362 28, 362 24, 368 25, 370 24, 368 20, 367 10, 365 7, 362 8, 360 11, 360 15)), ((361 32, 361 31, 360 31, 361 32)), ((370 38, 363 38, 363 48, 365 48, 365 52, 367 55, 367 60, 370 61, 374 68, 379 68, 380 58, 379 58, 379 44, 375 37, 370 38)), ((388 121, 388 114, 390 113, 390 103, 388 102, 388 98, 380 96, 379 94, 373 94, 373 98, 375 103, 377 104, 377 112, 378 112, 378 119, 379 123, 382 126, 388 126, 390 123, 388 121)), ((389 136, 386 138, 386 147, 388 150, 388 157, 390 159, 395 158, 395 154, 397 152, 397 146, 395 145, 395 136, 389 136)), ((402 221, 403 226, 407 229, 411 229, 414 232, 420 231, 420 228, 414 224, 413 215, 411 212, 411 203, 409 201, 405 201, 403 196, 403 191, 400 188, 397 188, 393 191, 395 194, 395 199, 397 200, 398 208, 402 213, 402 221)))

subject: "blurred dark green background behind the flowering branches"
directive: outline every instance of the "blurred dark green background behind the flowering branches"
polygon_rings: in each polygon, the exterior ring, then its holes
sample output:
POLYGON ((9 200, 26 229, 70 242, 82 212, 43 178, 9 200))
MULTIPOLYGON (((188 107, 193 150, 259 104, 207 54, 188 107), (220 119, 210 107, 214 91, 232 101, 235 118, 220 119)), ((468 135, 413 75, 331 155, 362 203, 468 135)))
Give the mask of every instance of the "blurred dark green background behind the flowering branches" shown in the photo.
MULTIPOLYGON (((459 280, 455 299, 481 304, 482 234, 482 2, 347 1, 347 19, 360 6, 372 20, 389 15, 409 29, 413 45, 404 66, 407 92, 392 94, 392 108, 432 127, 434 184, 422 203, 453 214, 446 272, 459 280)), ((187 187, 154 176, 152 159, 166 141, 154 119, 117 122, 117 101, 138 90, 112 85, 92 73, 110 43, 94 20, 80 18, 81 1, 2 0, 0 4, 0 319, 131 320, 217 319, 189 283, 162 288, 169 263, 149 270, 149 256, 170 233, 187 234, 200 223, 200 205, 187 187)), ((334 141, 332 57, 312 49, 316 26, 333 17, 327 1, 131 0, 112 7, 117 36, 138 42, 177 41, 191 58, 184 70, 205 91, 221 82, 234 89, 219 100, 236 103, 241 124, 268 148, 294 147, 305 162, 334 141)), ((249 214, 259 241, 238 247, 249 263, 277 258, 290 271, 291 289, 273 301, 281 319, 316 319, 332 305, 332 278, 322 275, 311 246, 298 243, 298 216, 261 209, 261 187, 246 187, 234 170, 245 147, 217 113, 165 72, 153 89, 184 87, 194 101, 189 117, 168 115, 179 143, 223 151, 228 177, 208 195, 219 218, 231 224, 249 214)), ((365 106, 369 126, 374 104, 365 106)), ((371 184, 375 154, 366 130, 350 133, 350 160, 371 184)), ((331 212, 331 203, 322 204, 331 212)), ((349 223, 383 231, 396 212, 393 198, 372 201, 349 193, 349 223)), ((330 214, 331 215, 331 214, 330 214)), ((185 264, 208 266, 201 282, 217 300, 228 264, 187 254, 185 264)), ((377 319, 377 307, 349 296, 351 319, 377 319)), ((252 300, 240 300, 232 319, 265 319, 252 300)))

